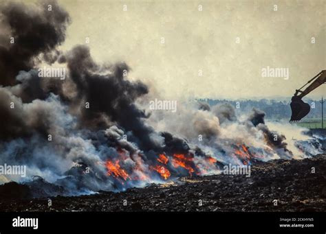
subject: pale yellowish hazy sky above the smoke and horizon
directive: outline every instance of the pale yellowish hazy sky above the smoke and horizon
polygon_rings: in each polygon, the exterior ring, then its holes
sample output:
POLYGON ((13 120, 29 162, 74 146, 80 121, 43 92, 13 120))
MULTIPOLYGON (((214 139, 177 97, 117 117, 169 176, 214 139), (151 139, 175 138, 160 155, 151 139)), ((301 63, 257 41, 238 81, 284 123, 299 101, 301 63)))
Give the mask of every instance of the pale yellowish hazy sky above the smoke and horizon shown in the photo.
MULTIPOLYGON (((88 37, 97 62, 124 60, 166 99, 290 97, 326 69, 326 0, 59 3, 72 18, 62 49, 88 37), (289 80, 262 78, 268 66, 289 80)), ((307 97, 322 94, 325 84, 307 97)))

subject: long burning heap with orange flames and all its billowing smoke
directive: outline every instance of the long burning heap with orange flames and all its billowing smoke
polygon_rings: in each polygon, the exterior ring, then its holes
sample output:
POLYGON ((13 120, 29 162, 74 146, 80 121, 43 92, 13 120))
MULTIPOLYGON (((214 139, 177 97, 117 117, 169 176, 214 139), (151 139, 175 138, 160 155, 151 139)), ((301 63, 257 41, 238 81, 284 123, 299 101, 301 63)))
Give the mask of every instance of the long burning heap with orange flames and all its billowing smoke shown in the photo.
POLYGON ((58 50, 70 19, 51 3, 52 12, 46 3, 0 8, 1 34, 15 40, 0 46, 0 164, 27 167, 26 178, 1 176, 2 183, 47 188, 33 196, 122 191, 323 151, 321 139, 294 126, 274 124, 296 132, 296 141, 270 130, 259 110, 235 115, 229 104, 194 103, 149 112, 147 101, 157 97, 127 78, 124 62, 98 65, 85 45, 58 50), (65 79, 40 76, 41 63, 67 69, 65 79))

